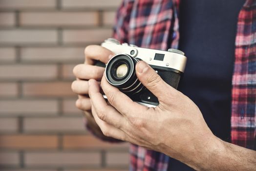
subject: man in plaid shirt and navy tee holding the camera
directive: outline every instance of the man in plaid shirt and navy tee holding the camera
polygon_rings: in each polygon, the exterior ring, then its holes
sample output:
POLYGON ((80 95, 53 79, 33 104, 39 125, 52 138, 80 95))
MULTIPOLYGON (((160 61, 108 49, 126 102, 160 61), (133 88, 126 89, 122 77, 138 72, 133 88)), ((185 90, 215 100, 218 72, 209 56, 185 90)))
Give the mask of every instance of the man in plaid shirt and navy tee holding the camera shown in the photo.
POLYGON ((155 108, 107 83, 104 68, 93 65, 111 59, 106 48, 86 47, 85 64, 74 68, 72 89, 87 127, 104 140, 134 144, 131 170, 256 170, 255 0, 124 0, 114 38, 179 47, 188 57, 180 91, 146 63, 136 64, 138 79, 159 100, 155 108))

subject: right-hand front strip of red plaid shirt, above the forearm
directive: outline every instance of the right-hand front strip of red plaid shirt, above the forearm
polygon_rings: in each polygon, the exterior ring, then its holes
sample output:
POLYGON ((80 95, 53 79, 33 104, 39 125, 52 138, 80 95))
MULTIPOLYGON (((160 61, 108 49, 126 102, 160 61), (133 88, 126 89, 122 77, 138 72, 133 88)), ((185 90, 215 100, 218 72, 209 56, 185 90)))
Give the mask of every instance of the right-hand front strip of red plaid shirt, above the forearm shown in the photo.
POLYGON ((231 141, 256 150, 256 0, 238 16, 232 86, 231 141))

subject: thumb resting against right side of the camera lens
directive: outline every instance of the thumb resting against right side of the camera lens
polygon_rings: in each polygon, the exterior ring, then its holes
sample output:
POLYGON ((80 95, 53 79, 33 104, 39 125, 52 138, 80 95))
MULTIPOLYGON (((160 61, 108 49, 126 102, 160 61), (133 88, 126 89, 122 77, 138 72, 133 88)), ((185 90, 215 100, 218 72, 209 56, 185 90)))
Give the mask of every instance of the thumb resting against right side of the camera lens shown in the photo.
POLYGON ((158 98, 159 102, 163 101, 167 94, 170 95, 175 90, 164 82, 155 70, 144 61, 139 61, 136 64, 136 75, 140 82, 158 98))

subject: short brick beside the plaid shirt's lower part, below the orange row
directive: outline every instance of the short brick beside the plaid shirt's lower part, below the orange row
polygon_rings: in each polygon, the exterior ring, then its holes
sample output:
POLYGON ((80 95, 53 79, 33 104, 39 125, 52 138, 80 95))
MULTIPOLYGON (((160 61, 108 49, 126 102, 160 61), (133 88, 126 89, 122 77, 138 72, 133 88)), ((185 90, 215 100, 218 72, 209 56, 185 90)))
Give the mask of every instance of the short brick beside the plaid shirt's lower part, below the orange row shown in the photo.
POLYGON ((129 153, 127 152, 107 152, 106 154, 106 163, 107 166, 120 166, 120 165, 129 165, 129 153))

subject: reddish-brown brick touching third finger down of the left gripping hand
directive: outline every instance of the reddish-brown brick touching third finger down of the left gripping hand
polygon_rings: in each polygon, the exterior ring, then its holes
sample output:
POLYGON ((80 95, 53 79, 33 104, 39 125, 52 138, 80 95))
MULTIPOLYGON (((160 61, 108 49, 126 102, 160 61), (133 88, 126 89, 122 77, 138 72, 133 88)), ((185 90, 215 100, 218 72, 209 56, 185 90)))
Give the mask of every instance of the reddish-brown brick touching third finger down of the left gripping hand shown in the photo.
POLYGON ((71 90, 71 83, 64 82, 24 83, 22 92, 24 96, 76 96, 71 90))

